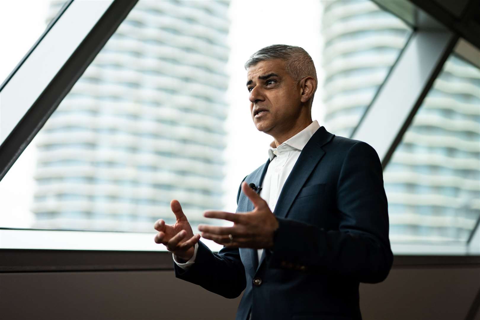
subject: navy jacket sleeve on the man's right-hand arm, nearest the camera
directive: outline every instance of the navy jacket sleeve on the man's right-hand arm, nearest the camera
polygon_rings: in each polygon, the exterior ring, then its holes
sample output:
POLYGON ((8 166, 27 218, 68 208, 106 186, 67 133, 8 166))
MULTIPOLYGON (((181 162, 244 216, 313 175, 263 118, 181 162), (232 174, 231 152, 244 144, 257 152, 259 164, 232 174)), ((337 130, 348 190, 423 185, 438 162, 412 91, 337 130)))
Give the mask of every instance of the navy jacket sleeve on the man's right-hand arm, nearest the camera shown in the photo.
POLYGON ((377 283, 388 275, 393 254, 383 173, 375 150, 356 142, 341 166, 336 192, 338 230, 277 218, 272 268, 326 272, 377 283))

